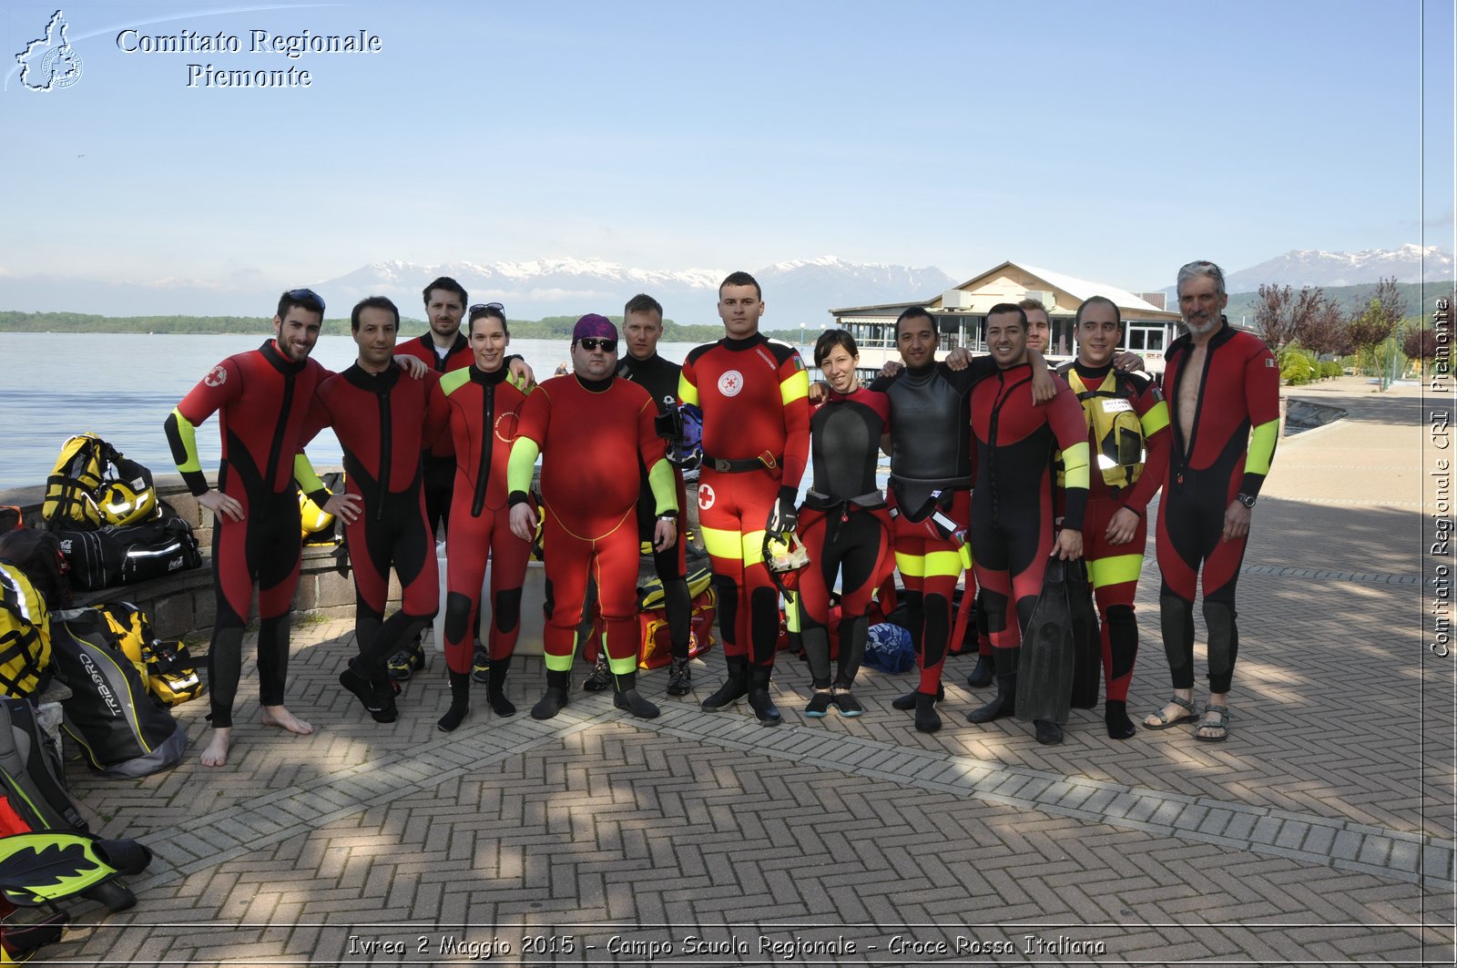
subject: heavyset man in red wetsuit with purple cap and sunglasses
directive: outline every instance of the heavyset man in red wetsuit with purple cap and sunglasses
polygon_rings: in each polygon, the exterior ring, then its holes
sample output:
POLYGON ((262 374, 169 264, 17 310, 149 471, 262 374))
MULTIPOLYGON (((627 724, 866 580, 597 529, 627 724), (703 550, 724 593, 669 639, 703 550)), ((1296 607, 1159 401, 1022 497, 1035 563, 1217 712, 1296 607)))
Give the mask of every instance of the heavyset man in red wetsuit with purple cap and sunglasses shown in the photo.
POLYGON ((673 471, 647 391, 616 379, 618 328, 589 313, 571 331, 576 373, 555 376, 532 392, 507 471, 511 531, 530 541, 536 531, 527 491, 542 459, 542 550, 548 609, 543 646, 546 692, 533 719, 551 719, 568 701, 577 625, 590 570, 606 627, 603 644, 616 681, 613 704, 653 719, 657 706, 637 691, 638 459, 657 497, 654 547, 678 538, 673 471))

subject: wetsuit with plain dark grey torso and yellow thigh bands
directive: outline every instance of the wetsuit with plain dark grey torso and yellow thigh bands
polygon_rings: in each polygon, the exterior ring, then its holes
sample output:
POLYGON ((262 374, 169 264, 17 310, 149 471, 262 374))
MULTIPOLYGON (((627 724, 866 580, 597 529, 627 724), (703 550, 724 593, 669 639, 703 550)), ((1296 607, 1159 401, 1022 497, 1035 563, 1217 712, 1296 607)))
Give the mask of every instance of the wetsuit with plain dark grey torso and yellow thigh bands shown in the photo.
MULTIPOLYGON (((906 621, 921 663, 918 691, 937 695, 951 641, 951 598, 966 567, 973 452, 969 395, 997 372, 989 356, 963 370, 946 363, 906 367, 871 389, 890 399, 890 506, 895 561, 906 592, 906 621)), ((1030 388, 1024 391, 1032 401, 1030 388)), ((975 550, 975 548, 972 548, 975 550)), ((965 595, 975 598, 967 571, 965 595)))

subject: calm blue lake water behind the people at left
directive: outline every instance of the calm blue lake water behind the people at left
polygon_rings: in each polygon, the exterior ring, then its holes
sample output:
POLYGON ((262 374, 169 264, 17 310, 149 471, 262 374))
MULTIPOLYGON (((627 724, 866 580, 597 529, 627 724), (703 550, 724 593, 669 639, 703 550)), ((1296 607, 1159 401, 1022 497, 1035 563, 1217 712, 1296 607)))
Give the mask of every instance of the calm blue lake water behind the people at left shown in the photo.
MULTIPOLYGON (((93 432, 153 474, 173 474, 162 423, 220 360, 256 348, 267 335, 149 335, 141 332, 0 332, 0 490, 45 484, 61 443, 93 432)), ((680 363, 694 343, 663 343, 659 353, 680 363)), ((552 375, 567 360, 567 340, 513 340, 536 370, 552 375)), ((342 370, 356 359, 347 335, 319 337, 313 359, 342 370)), ((217 420, 197 434, 203 468, 217 471, 217 420)), ((316 467, 342 461, 329 432, 309 445, 316 467)))

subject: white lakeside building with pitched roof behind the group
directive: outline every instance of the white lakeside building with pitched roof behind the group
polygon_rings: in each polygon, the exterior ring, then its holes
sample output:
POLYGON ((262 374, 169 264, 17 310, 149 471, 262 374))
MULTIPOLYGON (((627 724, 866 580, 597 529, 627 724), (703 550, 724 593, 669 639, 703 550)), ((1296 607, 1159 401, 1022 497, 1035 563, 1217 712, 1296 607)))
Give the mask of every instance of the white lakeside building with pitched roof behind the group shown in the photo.
POLYGON ((944 357, 947 351, 962 346, 972 353, 985 353, 986 311, 1002 302, 1037 299, 1046 306, 1052 324, 1048 360, 1059 363, 1072 359, 1072 315, 1093 296, 1112 299, 1123 315, 1126 328, 1119 348, 1141 354, 1150 373, 1163 373, 1164 350, 1179 332, 1177 312, 1155 306, 1126 289, 1021 262, 1002 262, 932 299, 830 309, 833 324, 829 325, 848 329, 855 337, 861 367, 873 370, 889 359, 899 359, 895 324, 896 316, 908 306, 925 306, 931 311, 941 332, 938 357, 944 357))

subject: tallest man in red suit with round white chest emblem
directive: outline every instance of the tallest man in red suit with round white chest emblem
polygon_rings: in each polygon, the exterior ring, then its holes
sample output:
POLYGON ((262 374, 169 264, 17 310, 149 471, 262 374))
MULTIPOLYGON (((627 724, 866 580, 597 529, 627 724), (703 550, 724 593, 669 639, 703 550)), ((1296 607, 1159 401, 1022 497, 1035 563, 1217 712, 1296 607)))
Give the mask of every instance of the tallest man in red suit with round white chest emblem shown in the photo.
POLYGON ((777 726, 769 675, 779 596, 763 563, 765 532, 794 529, 809 461, 810 385, 798 351, 759 334, 762 315, 763 293, 753 276, 728 276, 718 286, 724 338, 688 354, 678 398, 704 413, 698 520, 728 662, 728 681, 702 707, 718 710, 747 695, 759 723, 777 726))

